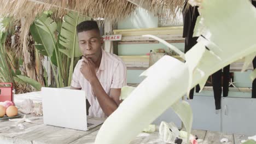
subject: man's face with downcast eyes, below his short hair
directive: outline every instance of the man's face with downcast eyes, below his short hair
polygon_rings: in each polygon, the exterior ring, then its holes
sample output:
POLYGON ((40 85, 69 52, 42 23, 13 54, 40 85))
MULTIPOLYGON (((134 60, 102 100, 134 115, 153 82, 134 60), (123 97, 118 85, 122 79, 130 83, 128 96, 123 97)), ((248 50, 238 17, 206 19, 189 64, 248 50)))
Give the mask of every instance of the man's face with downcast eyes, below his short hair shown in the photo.
POLYGON ((96 29, 83 31, 78 33, 78 43, 83 56, 90 58, 96 62, 101 56, 101 40, 100 33, 96 29))

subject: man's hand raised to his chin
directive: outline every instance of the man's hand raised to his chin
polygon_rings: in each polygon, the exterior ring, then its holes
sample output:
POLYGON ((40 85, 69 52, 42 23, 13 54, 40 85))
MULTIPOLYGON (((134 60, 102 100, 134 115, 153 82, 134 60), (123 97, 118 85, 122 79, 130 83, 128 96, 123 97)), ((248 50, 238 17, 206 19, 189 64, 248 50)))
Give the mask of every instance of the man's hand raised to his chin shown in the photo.
POLYGON ((96 66, 94 62, 91 61, 90 58, 86 58, 83 56, 83 60, 84 61, 82 62, 80 71, 86 80, 88 80, 89 82, 92 82, 93 80, 97 79, 96 66))

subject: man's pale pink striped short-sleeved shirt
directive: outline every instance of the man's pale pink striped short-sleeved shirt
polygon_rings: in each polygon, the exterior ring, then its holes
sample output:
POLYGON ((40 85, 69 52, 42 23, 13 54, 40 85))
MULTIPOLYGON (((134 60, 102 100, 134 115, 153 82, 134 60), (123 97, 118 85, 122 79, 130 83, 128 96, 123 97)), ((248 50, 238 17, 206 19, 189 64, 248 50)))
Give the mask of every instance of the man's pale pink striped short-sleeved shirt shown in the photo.
MULTIPOLYGON (((102 111, 97 98, 94 96, 92 87, 83 74, 80 72, 83 59, 80 59, 75 65, 71 86, 82 88, 85 91, 86 98, 90 103, 89 116, 106 117, 102 111)), ((126 65, 117 55, 102 50, 101 64, 97 70, 96 76, 101 82, 104 91, 109 95, 110 88, 122 88, 126 86, 126 65)))

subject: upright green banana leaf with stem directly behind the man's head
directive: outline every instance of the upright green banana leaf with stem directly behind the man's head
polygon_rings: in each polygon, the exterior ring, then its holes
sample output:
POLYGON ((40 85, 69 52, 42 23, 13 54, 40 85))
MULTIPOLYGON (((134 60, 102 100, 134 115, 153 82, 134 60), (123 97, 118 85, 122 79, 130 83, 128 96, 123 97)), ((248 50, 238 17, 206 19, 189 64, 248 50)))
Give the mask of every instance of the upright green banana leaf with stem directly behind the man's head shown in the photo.
POLYGON ((90 17, 79 15, 74 11, 70 11, 64 16, 64 21, 62 23, 61 34, 60 34, 60 44, 65 46, 66 49, 60 49, 62 53, 71 58, 71 64, 69 67, 68 85, 71 83, 71 78, 73 75, 74 68, 74 58, 82 56, 79 50, 77 29, 76 26, 85 20, 91 20, 90 17))

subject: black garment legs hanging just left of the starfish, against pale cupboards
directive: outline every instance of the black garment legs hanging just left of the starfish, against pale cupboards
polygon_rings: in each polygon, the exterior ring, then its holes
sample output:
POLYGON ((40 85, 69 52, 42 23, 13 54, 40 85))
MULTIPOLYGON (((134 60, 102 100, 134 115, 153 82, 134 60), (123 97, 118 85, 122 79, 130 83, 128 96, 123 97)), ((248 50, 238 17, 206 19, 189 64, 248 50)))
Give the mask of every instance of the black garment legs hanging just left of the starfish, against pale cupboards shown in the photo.
POLYGON ((212 86, 213 94, 215 99, 215 109, 221 109, 221 99, 222 99, 222 76, 223 76, 223 97, 228 97, 229 93, 229 70, 230 65, 216 71, 212 74, 212 86))

